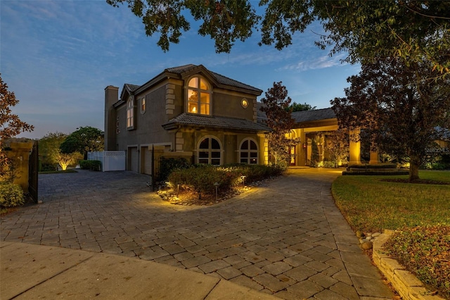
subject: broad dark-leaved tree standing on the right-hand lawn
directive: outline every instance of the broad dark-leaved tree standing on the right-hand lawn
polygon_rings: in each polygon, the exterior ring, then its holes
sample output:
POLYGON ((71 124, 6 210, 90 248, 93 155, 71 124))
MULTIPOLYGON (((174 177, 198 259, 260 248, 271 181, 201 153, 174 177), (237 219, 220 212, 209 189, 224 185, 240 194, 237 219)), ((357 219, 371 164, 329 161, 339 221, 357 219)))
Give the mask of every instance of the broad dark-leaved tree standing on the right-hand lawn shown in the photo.
POLYGON ((340 127, 361 128, 373 149, 410 159, 409 180, 417 180, 426 149, 450 127, 450 78, 430 80, 432 63, 406 65, 400 58, 363 64, 347 79, 345 98, 333 104, 340 127))

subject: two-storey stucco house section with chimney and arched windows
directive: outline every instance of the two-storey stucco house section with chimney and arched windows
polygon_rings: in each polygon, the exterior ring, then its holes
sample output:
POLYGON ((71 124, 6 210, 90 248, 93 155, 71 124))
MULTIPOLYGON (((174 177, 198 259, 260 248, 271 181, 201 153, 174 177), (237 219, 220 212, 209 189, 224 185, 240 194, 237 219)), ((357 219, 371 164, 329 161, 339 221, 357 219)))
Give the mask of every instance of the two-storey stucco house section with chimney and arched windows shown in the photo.
POLYGON ((120 96, 108 86, 105 150, 126 151, 127 170, 146 174, 158 173, 159 157, 266 164, 269 128, 257 122, 261 94, 192 64, 167 68, 143 85, 124 84, 120 96))

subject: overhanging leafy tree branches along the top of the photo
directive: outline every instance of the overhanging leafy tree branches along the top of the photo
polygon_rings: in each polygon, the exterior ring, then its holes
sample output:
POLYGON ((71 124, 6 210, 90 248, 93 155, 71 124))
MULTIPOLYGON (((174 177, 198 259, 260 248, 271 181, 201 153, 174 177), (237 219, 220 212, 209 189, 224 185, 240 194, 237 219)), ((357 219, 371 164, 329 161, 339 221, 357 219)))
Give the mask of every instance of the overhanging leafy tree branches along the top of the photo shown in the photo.
POLYGON ((260 0, 258 10, 250 0, 106 2, 128 4, 142 18, 147 35, 160 33, 158 45, 164 51, 190 29, 188 13, 203 21, 199 34, 209 35, 216 51, 227 53, 236 40, 245 41, 254 30, 261 32, 259 44, 283 49, 295 32, 318 21, 324 32, 316 44, 332 45, 330 55, 347 51, 346 61, 352 63, 401 57, 408 64, 425 57, 436 71, 433 77, 450 73, 450 1, 260 0))

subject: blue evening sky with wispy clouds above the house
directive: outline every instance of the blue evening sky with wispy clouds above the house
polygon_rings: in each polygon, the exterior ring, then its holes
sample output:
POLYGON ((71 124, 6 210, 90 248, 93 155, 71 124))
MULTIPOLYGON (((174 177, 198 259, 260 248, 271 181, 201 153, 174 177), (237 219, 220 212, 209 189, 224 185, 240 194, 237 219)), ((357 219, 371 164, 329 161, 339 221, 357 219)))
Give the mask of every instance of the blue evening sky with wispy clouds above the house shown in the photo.
POLYGON ((80 126, 103 130, 106 86, 142 85, 178 65, 203 64, 264 92, 282 81, 293 101, 316 108, 344 96, 347 77, 359 72, 359 65, 340 63, 345 54, 329 57, 314 46, 320 25, 295 35, 282 51, 258 46, 255 32, 230 54, 216 54, 214 42, 198 35, 195 23, 164 53, 156 45, 158 35, 147 37, 127 6, 114 8, 103 0, 2 0, 0 22, 1 77, 20 101, 13 113, 35 127, 19 136, 34 139, 80 126))

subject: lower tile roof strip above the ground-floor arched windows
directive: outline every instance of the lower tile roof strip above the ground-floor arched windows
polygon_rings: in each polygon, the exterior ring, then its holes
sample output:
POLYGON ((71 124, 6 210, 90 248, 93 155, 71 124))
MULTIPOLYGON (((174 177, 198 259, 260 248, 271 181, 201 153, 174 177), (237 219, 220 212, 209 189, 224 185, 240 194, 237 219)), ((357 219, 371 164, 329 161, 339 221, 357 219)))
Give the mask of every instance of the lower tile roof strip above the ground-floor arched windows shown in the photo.
POLYGON ((193 125, 195 127, 213 127, 229 130, 270 131, 269 127, 250 120, 217 117, 212 115, 195 115, 191 113, 181 113, 181 115, 169 120, 169 122, 162 125, 162 127, 170 129, 177 125, 193 125))

